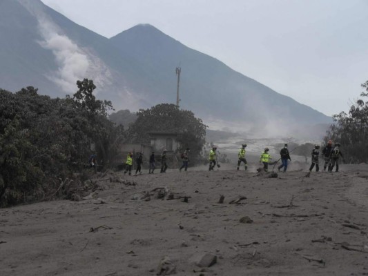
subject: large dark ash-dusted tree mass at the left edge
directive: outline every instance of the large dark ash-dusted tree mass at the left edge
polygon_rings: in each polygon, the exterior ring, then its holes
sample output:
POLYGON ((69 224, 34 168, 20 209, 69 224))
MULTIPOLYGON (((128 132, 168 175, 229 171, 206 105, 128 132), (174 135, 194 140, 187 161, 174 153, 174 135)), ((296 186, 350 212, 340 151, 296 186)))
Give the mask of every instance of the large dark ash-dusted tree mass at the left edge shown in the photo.
POLYGON ((93 144, 100 164, 114 158, 124 132, 107 118, 111 103, 95 99, 93 81, 77 86, 72 99, 0 90, 0 206, 48 199, 86 164, 93 144))

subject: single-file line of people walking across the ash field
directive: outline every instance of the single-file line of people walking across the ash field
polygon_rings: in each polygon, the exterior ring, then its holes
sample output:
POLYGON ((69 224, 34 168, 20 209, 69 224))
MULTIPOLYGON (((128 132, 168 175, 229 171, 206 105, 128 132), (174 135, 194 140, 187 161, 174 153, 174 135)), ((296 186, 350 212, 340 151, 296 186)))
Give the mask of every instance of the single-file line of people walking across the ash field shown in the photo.
MULTIPOLYGON (((336 172, 338 172, 339 169, 339 158, 342 157, 342 152, 340 150, 340 144, 335 143, 332 145, 333 142, 329 140, 327 142, 327 145, 322 150, 322 155, 325 160, 325 164, 323 165, 323 170, 328 170, 329 172, 332 172, 333 168, 336 166, 336 172)), ((236 167, 237 170, 240 170, 240 165, 244 164, 244 170, 248 169, 248 163, 246 161, 245 155, 246 155, 246 144, 242 144, 242 147, 240 148, 238 152, 238 165, 236 167)), ((214 170, 215 166, 220 168, 220 164, 218 164, 217 161, 217 147, 212 146, 211 150, 209 151, 209 171, 214 170)), ((185 171, 188 169, 188 160, 189 160, 189 152, 190 149, 186 148, 184 152, 182 152, 181 158, 182 158, 182 166, 179 168, 180 172, 184 169, 185 171)), ((160 173, 166 172, 166 169, 168 168, 167 165, 167 150, 163 150, 161 154, 161 170, 160 173)), ((311 166, 309 167, 309 171, 312 171, 313 168, 316 166, 316 171, 318 172, 320 170, 320 146, 315 145, 312 152, 311 152, 311 166)), ((342 157, 343 158, 343 157, 342 157)), ((278 171, 281 170, 283 172, 287 171, 288 163, 291 161, 290 152, 288 150, 287 144, 284 144, 284 147, 280 150, 280 159, 277 161, 271 162, 272 157, 269 154, 269 148, 264 148, 264 151, 260 155, 260 164, 263 164, 263 170, 267 172, 269 170, 269 164, 277 164, 278 161, 281 161, 280 166, 278 166, 278 171)), ((137 168, 135 170, 135 175, 138 173, 142 173, 142 163, 143 163, 143 155, 142 152, 137 152, 137 157, 135 158, 135 163, 137 164, 137 168)), ((91 164, 95 164, 94 162, 91 162, 91 164)), ((152 152, 149 157, 149 170, 148 174, 153 174, 156 168, 156 160, 155 160, 155 152, 152 152)), ((93 166, 93 165, 92 165, 93 166)), ((133 152, 129 152, 128 156, 126 158, 126 166, 124 170, 124 174, 128 172, 128 175, 131 175, 131 170, 133 168, 133 152)))

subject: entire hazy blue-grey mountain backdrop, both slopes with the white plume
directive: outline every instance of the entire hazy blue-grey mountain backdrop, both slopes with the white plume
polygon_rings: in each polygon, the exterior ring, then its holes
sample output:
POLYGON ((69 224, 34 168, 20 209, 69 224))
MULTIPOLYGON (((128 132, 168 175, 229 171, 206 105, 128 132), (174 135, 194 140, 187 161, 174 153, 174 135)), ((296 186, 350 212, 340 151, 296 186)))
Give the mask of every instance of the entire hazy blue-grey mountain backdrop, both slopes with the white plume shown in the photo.
POLYGON ((0 39, 0 88, 7 90, 35 86, 64 97, 86 77, 95 81, 97 97, 133 111, 175 103, 180 66, 180 107, 211 128, 266 135, 331 122, 149 24, 107 39, 39 0, 0 0, 0 39))

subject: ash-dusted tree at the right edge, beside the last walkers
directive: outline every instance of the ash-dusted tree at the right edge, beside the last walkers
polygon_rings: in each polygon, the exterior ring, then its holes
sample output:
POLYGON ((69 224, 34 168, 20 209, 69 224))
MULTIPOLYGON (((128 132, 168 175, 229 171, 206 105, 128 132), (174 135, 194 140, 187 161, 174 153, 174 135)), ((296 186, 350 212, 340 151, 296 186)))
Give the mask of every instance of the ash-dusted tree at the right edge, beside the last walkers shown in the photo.
MULTIPOLYGON (((362 83, 366 92, 361 97, 368 97, 368 81, 362 83)), ((358 99, 350 107, 349 114, 340 112, 333 116, 336 124, 332 124, 327 131, 325 141, 332 139, 341 144, 345 160, 349 163, 368 161, 368 101, 358 99)))

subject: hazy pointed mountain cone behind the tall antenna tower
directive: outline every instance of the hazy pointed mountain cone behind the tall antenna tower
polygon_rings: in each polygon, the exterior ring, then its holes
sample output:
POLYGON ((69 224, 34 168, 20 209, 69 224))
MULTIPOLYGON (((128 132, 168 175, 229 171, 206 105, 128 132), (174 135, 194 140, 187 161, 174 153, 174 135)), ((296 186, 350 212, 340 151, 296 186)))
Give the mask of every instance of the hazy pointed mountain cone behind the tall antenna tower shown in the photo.
POLYGON ((192 50, 153 26, 135 26, 110 39, 133 55, 155 81, 155 97, 175 98, 175 67, 180 64, 181 106, 201 115, 249 121, 272 119, 301 124, 327 122, 329 117, 235 72, 221 61, 192 50), (285 118, 286 117, 286 118, 285 118))

